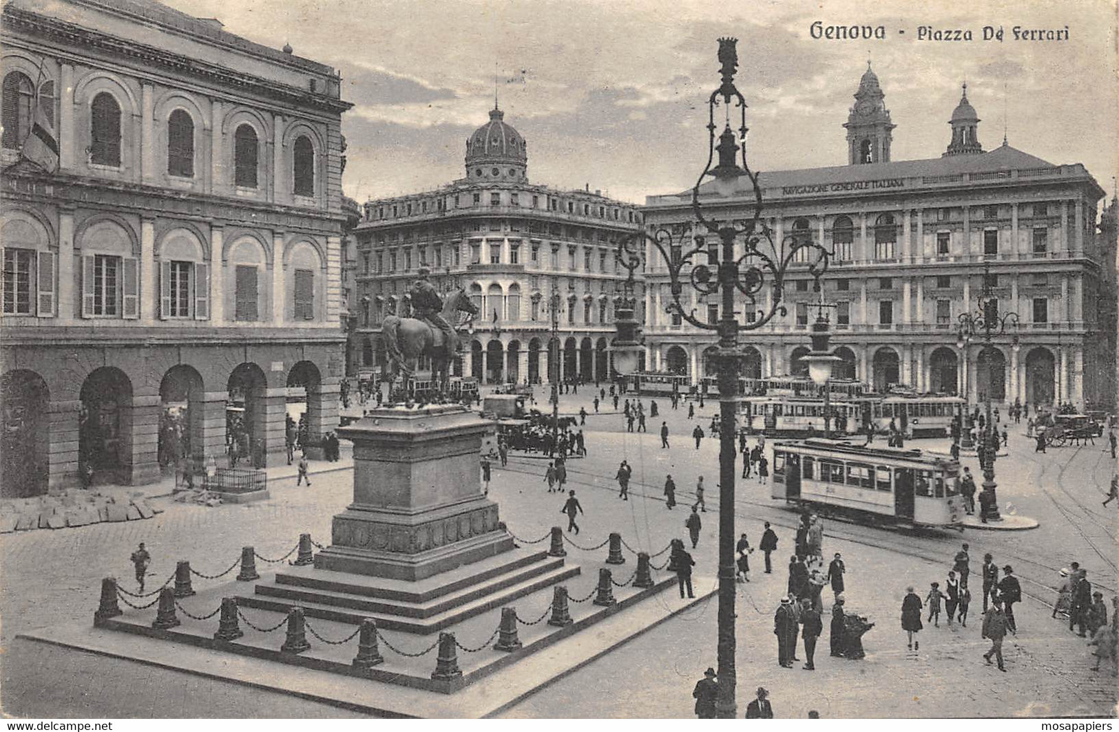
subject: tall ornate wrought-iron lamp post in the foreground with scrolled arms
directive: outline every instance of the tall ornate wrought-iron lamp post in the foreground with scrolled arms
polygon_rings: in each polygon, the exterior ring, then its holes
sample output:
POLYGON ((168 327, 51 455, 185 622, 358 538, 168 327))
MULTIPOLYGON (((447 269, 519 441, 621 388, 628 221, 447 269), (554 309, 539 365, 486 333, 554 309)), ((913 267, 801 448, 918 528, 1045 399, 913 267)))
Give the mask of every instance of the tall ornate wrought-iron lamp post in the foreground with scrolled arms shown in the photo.
MULTIPOLYGON (((740 350, 739 332, 754 331, 775 315, 786 315, 781 305, 782 287, 786 272, 796 260, 807 267, 809 273, 819 281, 827 269, 828 253, 819 244, 814 243, 808 235, 794 234, 782 241, 774 243, 773 232, 762 220, 762 190, 758 183, 758 174, 746 165, 746 103, 734 86, 734 74, 739 65, 735 50, 736 39, 718 39, 718 60, 722 64, 722 84, 708 99, 708 155, 699 179, 692 190, 692 211, 698 226, 707 234, 718 237, 721 247, 708 249, 703 236, 695 237, 690 244, 674 243, 673 235, 665 228, 649 232, 638 232, 619 244, 618 262, 629 272, 623 285, 623 295, 617 312, 618 338, 613 343, 614 370, 626 375, 638 360, 640 349, 640 330, 633 317, 636 300, 633 297, 634 272, 642 266, 646 246, 655 248, 668 269, 670 283, 669 313, 679 315, 694 327, 703 331, 714 331, 718 342, 714 353, 718 381, 720 399, 720 485, 718 485, 718 701, 716 715, 721 719, 735 716, 735 633, 734 633, 734 481, 736 470, 735 450, 735 416, 737 408, 739 371, 743 352, 740 350), (723 107, 725 124, 722 134, 716 139, 715 111, 723 107), (736 130, 731 129, 732 110, 735 112, 736 130), (739 165, 737 152, 742 149, 742 164, 739 165), (718 164, 713 165, 715 153, 718 153, 718 164), (726 197, 740 194, 745 198, 743 207, 749 211, 749 218, 740 221, 717 220, 699 205, 700 187, 704 179, 711 175, 714 181, 713 198, 722 198, 721 205, 726 205, 726 197), (743 181, 745 179, 745 181, 743 181), (749 187, 745 184, 749 183, 749 187), (739 253, 735 251, 736 243, 739 253), (673 256, 676 247, 679 254, 673 256), (690 249, 688 247, 692 247, 690 249), (771 283, 767 283, 771 279, 771 283), (718 320, 709 323, 700 320, 695 310, 683 301, 684 285, 694 289, 700 296, 718 295, 718 320), (759 295, 765 285, 772 288, 772 301, 759 307, 759 295), (735 293, 744 298, 743 317, 735 317, 735 293)), ((708 191, 704 190, 704 198, 708 191)), ((730 217, 730 213, 727 213, 730 217)), ((651 249, 650 249, 651 255, 651 249)))

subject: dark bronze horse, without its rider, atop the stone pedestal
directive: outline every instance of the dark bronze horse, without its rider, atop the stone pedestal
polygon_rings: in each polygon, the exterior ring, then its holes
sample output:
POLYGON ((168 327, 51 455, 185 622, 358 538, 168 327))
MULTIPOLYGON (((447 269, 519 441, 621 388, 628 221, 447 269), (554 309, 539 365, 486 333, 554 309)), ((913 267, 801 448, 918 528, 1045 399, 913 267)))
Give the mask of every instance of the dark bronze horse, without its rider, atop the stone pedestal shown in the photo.
MULTIPOLYGON (((466 291, 459 288, 443 298, 443 320, 451 323, 455 331, 473 320, 478 307, 470 302, 466 291), (466 313, 467 319, 459 322, 459 313, 466 313)), ((407 379, 415 372, 415 362, 420 355, 431 359, 432 381, 439 384, 440 391, 446 390, 449 367, 459 349, 459 339, 446 343, 443 332, 432 327, 417 317, 401 317, 386 315, 382 321, 380 333, 385 340, 385 350, 393 367, 393 375, 403 373, 407 379)))

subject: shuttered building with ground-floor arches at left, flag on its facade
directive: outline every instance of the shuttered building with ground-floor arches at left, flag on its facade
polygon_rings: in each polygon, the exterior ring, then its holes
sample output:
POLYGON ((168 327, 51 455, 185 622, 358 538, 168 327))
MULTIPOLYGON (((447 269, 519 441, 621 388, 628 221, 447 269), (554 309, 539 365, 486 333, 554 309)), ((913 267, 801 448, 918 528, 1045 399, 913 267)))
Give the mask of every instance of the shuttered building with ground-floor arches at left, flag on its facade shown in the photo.
POLYGON ((153 0, 12 0, 2 40, 3 494, 151 482, 171 417, 266 463, 289 386, 336 425, 338 74, 153 0))

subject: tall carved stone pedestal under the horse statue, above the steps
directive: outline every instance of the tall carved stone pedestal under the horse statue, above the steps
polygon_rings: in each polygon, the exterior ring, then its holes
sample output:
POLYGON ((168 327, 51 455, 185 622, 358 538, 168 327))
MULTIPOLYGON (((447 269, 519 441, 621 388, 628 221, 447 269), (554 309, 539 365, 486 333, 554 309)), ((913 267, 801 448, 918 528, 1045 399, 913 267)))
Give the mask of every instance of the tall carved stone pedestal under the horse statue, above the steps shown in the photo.
POLYGON ((511 550, 479 478, 492 429, 458 405, 377 408, 339 429, 354 443, 354 502, 314 567, 417 581, 511 550))

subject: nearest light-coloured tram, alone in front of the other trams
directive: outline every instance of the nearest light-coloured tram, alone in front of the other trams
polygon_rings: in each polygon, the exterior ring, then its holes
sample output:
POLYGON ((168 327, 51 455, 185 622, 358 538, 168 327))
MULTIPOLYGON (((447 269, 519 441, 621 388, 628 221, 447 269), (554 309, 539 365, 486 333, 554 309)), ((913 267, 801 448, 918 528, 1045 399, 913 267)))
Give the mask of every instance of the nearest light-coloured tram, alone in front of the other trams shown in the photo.
POLYGON ((770 485, 797 506, 962 530, 959 470, 947 455, 806 439, 774 443, 770 485))

